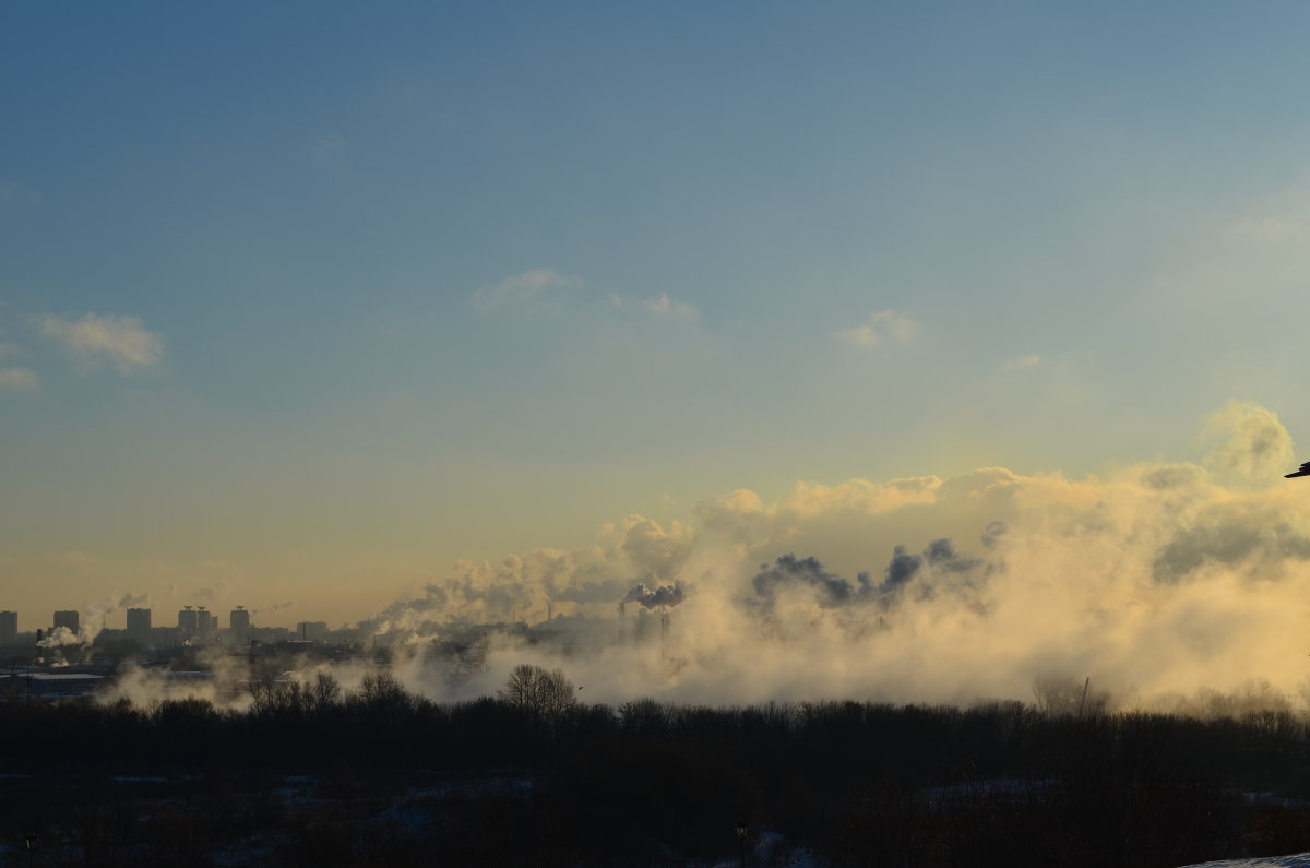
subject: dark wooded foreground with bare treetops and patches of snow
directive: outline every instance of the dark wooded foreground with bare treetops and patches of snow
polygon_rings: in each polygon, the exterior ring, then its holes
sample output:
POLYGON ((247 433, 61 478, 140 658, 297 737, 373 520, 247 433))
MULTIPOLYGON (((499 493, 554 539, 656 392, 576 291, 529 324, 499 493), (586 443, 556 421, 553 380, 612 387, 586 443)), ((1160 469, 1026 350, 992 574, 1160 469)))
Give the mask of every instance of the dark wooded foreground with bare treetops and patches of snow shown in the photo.
POLYGON ((269 686, 245 712, 0 705, 0 864, 738 864, 739 823, 748 864, 1310 848, 1307 730, 1289 712, 614 708, 538 681, 455 704, 375 674, 269 686))

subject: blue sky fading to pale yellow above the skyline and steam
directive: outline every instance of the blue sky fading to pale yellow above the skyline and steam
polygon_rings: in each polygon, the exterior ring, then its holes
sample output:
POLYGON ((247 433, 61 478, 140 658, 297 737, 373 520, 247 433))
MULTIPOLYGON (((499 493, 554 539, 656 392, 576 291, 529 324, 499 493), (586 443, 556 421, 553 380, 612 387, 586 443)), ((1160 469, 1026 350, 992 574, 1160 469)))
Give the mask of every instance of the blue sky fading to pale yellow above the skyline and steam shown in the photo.
MULTIPOLYGON (((544 551, 681 581, 633 534, 979 468, 1268 477, 1303 578, 1310 8, 376 5, 0 8, 21 629, 335 627, 544 551)), ((854 581, 1006 509, 715 562, 854 581)))

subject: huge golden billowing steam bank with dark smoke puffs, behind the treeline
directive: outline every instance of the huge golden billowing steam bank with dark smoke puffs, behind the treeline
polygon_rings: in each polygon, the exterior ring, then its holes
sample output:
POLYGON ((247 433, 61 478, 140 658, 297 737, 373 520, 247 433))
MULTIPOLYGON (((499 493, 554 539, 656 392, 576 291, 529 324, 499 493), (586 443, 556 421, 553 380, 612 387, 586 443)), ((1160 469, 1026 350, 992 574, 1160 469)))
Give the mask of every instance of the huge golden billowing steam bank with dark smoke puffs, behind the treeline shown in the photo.
POLYGON ((690 523, 630 517, 588 547, 460 564, 364 627, 532 623, 553 602, 605 648, 557 660, 507 635, 456 695, 494 692, 527 661, 597 700, 1031 700, 1058 677, 1137 705, 1252 679, 1310 696, 1310 481, 1281 477, 1290 438, 1263 408, 1229 404, 1207 438, 1199 464, 1106 477, 992 467, 802 484, 776 503, 736 490, 690 523), (616 644, 625 598, 679 602, 667 636, 616 644))

